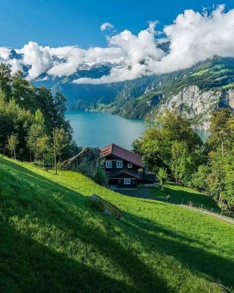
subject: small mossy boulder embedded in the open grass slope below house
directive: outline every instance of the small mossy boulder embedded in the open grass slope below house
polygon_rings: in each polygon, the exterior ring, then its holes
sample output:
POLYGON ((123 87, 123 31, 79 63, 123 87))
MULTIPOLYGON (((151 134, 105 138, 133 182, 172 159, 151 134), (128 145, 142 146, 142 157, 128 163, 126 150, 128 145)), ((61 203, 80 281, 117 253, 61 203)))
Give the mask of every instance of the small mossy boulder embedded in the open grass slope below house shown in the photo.
POLYGON ((92 206, 95 209, 101 211, 104 215, 111 215, 117 220, 121 218, 121 211, 117 208, 116 205, 114 205, 110 201, 103 199, 99 195, 91 195, 90 199, 92 206))

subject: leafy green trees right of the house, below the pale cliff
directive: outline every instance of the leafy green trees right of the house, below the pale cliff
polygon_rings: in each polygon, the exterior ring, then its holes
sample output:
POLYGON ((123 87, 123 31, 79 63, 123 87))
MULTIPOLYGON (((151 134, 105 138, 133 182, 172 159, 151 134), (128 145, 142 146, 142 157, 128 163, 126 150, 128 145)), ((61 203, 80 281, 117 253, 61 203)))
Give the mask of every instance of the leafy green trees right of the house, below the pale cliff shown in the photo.
POLYGON ((222 108, 211 115, 205 144, 191 122, 167 110, 133 142, 160 185, 166 180, 194 187, 234 210, 234 115, 222 108))

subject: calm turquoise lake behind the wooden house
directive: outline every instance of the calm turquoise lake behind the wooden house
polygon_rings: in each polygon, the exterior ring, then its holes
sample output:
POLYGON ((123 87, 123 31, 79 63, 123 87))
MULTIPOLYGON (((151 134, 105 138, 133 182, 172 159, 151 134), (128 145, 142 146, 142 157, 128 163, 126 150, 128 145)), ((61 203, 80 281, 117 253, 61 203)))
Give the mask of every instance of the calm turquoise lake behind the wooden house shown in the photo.
MULTIPOLYGON (((126 119, 102 112, 67 111, 73 138, 80 147, 104 147, 111 143, 131 149, 132 141, 142 135, 146 124, 141 119, 126 119)), ((205 141, 208 131, 196 130, 205 141)))

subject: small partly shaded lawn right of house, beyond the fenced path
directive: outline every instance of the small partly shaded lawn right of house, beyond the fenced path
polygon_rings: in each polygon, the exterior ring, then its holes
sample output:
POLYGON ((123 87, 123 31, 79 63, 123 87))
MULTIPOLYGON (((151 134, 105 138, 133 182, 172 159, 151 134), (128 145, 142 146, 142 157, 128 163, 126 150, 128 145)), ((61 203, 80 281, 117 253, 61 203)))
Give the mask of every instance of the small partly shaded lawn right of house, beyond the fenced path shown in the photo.
POLYGON ((161 191, 160 188, 154 188, 152 190, 152 195, 161 199, 166 199, 167 195, 170 195, 170 201, 174 203, 180 204, 184 199, 184 202, 191 200, 200 205, 203 204, 210 208, 219 209, 217 202, 212 197, 174 183, 167 183, 164 187, 164 191, 161 191))

